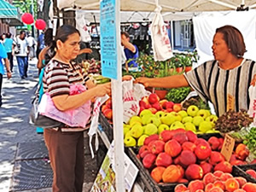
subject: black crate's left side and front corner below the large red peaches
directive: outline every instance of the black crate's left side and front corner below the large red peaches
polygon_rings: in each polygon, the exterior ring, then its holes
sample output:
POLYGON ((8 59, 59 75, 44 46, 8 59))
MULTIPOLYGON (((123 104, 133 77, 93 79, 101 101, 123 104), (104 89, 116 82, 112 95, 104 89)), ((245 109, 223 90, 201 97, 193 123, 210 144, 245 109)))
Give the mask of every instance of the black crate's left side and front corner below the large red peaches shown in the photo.
POLYGON ((143 163, 137 159, 136 151, 137 148, 125 148, 125 153, 130 157, 133 163, 139 169, 138 178, 141 179, 144 185, 147 187, 148 192, 171 192, 179 183, 156 183, 150 176, 148 170, 143 166, 143 163))

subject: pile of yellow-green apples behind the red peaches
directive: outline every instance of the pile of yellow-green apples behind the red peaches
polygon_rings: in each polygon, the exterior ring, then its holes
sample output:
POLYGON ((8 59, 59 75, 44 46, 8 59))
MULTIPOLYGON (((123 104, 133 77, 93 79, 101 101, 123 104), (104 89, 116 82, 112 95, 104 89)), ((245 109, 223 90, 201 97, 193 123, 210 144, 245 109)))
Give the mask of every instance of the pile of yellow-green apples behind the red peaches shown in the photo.
MULTIPOLYGON (((169 103, 171 102, 166 102, 165 105, 168 106, 169 103)), ((199 109, 196 106, 189 106, 187 112, 181 110, 170 113, 164 111, 154 113, 151 108, 144 109, 139 116, 131 117, 129 123, 124 125, 125 146, 141 146, 146 137, 160 134, 164 130, 183 128, 196 133, 217 132, 214 130, 214 122, 217 119, 218 117, 211 114, 209 110, 199 109)))

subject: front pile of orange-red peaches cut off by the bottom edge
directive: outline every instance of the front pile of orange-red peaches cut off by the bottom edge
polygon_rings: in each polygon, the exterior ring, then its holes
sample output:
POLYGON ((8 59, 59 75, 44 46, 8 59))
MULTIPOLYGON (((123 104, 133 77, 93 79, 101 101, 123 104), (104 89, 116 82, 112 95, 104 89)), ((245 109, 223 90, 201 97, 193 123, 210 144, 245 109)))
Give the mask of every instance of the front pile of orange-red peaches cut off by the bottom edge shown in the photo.
POLYGON ((202 180, 195 180, 186 187, 178 184, 174 192, 254 192, 255 183, 247 183, 244 177, 233 177, 230 173, 216 171, 207 173, 202 180))

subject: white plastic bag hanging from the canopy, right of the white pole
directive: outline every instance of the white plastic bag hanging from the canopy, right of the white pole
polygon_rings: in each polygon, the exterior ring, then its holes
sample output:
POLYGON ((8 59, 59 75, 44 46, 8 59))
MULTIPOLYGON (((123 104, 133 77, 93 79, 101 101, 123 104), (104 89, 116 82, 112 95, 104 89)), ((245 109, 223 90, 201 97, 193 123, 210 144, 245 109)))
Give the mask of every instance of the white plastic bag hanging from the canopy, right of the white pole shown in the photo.
POLYGON ((160 14, 160 10, 160 6, 154 10, 154 20, 150 26, 154 61, 166 61, 173 56, 170 39, 166 31, 166 24, 160 14))

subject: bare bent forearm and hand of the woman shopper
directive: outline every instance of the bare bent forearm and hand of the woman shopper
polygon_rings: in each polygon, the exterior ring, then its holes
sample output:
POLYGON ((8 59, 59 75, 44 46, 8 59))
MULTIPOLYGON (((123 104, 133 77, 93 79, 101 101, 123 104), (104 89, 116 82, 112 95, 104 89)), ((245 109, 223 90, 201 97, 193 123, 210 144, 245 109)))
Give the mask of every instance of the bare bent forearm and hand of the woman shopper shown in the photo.
POLYGON ((85 102, 88 102, 96 96, 105 96, 111 91, 111 84, 99 84, 96 87, 86 90, 83 93, 75 96, 61 95, 52 98, 56 108, 60 111, 66 111, 73 108, 79 108, 85 102))

